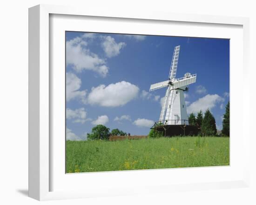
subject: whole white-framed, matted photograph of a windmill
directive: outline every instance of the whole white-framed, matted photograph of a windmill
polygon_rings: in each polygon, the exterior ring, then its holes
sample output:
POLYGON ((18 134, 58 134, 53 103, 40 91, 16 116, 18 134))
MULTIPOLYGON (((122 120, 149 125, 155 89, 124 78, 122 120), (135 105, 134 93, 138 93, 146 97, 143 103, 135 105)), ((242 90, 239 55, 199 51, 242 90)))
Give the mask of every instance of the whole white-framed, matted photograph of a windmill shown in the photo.
POLYGON ((29 196, 249 186, 248 31, 246 18, 30 8, 29 196))

